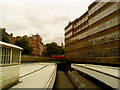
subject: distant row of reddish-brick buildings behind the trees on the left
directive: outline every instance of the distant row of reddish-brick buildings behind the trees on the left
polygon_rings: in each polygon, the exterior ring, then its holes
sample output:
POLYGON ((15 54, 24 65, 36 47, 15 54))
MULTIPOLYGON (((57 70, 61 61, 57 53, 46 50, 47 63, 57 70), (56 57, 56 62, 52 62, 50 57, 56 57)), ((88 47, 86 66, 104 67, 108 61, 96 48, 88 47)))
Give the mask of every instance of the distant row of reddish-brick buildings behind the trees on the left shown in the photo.
MULTIPOLYGON (((13 37, 13 33, 8 34, 5 28, 0 28, 0 40, 1 41, 2 41, 3 32, 8 37, 9 43, 11 44, 15 44, 15 40, 22 38, 22 36, 13 37)), ((28 37, 27 35, 25 35, 23 37, 26 38, 29 41, 29 45, 32 46, 32 55, 35 55, 35 56, 44 55, 44 53, 46 52, 45 50, 46 48, 42 42, 42 38, 40 37, 40 35, 36 34, 36 35, 32 35, 31 37, 28 37)))

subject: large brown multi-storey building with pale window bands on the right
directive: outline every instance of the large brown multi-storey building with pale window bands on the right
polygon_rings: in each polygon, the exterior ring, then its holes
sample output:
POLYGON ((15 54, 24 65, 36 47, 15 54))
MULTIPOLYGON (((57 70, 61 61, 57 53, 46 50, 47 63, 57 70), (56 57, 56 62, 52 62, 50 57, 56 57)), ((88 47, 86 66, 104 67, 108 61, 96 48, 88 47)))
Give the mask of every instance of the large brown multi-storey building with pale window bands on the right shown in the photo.
POLYGON ((120 1, 93 2, 65 27, 65 57, 78 62, 120 63, 120 1))

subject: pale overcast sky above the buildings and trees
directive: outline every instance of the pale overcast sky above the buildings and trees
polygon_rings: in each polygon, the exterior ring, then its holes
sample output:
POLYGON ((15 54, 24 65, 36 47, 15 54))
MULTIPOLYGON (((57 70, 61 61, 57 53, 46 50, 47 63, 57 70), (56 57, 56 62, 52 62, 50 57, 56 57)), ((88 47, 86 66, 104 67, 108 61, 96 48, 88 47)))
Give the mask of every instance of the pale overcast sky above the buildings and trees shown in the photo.
POLYGON ((14 36, 38 33, 44 44, 61 44, 65 26, 84 14, 93 1, 0 0, 0 27, 5 27, 14 36))

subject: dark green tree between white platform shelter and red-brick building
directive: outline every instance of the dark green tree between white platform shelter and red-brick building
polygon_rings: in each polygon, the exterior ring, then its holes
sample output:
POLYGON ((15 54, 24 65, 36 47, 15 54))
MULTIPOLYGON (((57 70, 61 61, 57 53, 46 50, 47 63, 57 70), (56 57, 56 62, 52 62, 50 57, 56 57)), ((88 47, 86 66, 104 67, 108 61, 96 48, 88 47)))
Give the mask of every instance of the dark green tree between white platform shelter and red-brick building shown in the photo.
POLYGON ((29 46, 29 42, 26 38, 20 38, 15 41, 15 45, 22 47, 24 50, 22 51, 22 54, 24 55, 31 55, 32 53, 32 47, 29 46))

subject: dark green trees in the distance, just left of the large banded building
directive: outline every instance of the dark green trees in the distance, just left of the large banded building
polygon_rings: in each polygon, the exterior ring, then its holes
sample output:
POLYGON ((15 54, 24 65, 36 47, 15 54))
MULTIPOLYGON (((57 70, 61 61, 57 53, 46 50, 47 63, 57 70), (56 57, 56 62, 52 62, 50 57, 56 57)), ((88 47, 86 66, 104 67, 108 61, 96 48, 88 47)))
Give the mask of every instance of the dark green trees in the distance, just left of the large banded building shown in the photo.
POLYGON ((57 45, 57 43, 52 42, 46 44, 47 56, 51 56, 52 54, 64 54, 63 47, 57 45))

